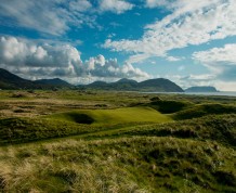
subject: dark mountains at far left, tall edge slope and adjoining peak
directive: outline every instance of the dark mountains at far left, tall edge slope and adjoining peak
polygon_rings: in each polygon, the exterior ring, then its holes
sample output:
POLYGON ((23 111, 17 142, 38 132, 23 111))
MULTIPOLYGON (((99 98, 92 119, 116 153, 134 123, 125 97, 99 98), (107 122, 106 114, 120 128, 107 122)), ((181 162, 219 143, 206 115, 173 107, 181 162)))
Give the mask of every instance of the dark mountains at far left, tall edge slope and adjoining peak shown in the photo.
POLYGON ((31 81, 0 68, 0 89, 53 89, 70 87, 75 86, 58 78, 31 81))

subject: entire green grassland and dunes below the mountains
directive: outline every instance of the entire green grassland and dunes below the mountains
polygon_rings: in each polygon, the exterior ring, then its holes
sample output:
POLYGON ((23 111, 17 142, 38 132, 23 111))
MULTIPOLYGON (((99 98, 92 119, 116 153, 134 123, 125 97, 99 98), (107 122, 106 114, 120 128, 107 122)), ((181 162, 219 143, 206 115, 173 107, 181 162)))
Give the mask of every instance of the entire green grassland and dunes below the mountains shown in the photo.
POLYGON ((0 192, 236 192, 235 149, 233 97, 0 91, 0 192))

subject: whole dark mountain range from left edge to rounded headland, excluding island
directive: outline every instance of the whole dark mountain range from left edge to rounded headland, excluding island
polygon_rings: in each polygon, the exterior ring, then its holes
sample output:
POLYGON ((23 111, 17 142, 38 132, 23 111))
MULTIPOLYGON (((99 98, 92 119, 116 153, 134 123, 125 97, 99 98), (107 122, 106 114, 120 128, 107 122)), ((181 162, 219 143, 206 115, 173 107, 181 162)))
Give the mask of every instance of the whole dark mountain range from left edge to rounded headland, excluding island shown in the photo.
POLYGON ((27 80, 3 68, 0 68, 0 89, 53 89, 53 88, 78 88, 117 91, 143 91, 143 92, 184 92, 174 82, 165 79, 148 79, 137 82, 132 79, 120 79, 116 82, 94 81, 89 85, 73 86, 60 78, 27 80))

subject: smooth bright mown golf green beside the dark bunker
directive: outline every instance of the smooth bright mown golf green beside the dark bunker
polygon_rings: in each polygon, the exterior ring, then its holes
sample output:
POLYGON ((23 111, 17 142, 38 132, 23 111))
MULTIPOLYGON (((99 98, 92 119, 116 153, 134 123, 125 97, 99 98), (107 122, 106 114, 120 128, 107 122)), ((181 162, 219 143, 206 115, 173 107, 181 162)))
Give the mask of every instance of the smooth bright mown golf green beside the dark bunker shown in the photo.
POLYGON ((60 114, 50 115, 50 118, 78 121, 81 115, 92 119, 92 125, 101 124, 126 124, 126 123, 167 123, 172 120, 170 116, 163 115, 156 110, 147 106, 123 107, 116 110, 79 110, 60 114))

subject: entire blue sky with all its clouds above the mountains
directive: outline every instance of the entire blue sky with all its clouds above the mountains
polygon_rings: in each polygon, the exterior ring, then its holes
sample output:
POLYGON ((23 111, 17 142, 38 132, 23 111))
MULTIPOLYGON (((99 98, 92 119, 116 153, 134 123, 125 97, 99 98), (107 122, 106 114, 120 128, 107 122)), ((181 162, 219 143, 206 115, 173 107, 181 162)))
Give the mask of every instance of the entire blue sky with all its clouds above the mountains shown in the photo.
POLYGON ((0 67, 236 91, 236 0, 0 0, 0 67))

